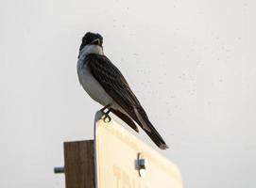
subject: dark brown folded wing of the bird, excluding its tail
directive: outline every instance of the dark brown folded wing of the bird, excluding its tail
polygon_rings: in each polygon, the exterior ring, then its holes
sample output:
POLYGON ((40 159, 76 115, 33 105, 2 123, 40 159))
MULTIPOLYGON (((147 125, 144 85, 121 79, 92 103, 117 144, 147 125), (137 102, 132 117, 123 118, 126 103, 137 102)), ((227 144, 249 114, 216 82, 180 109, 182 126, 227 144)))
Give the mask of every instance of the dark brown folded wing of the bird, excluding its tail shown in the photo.
MULTIPOLYGON (((105 55, 87 55, 85 58, 87 66, 94 75, 94 78, 110 94, 131 118, 137 122, 134 107, 141 106, 122 73, 111 63, 105 55)), ((138 123, 138 122, 137 122, 138 123)))

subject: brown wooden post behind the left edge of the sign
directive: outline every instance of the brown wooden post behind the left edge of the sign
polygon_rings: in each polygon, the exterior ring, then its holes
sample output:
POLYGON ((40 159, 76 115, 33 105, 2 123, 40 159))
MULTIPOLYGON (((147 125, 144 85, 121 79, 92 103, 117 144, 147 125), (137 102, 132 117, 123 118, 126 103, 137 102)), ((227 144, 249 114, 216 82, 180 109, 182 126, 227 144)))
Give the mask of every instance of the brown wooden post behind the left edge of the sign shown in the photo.
POLYGON ((65 142, 66 188, 95 188, 94 140, 65 142))

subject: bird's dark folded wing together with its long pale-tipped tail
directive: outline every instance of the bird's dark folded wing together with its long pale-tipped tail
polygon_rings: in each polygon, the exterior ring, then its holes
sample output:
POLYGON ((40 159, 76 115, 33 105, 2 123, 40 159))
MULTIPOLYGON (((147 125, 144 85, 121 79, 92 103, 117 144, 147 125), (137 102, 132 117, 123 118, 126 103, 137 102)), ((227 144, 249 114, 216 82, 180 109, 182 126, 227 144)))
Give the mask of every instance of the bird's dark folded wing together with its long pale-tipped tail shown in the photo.
POLYGON ((161 135, 153 127, 145 114, 142 105, 131 91, 128 82, 122 73, 111 63, 105 55, 87 55, 87 66, 94 78, 109 93, 111 98, 120 105, 149 135, 149 137, 161 148, 166 149, 161 135))

